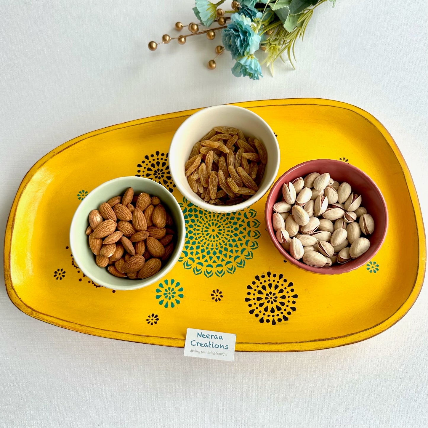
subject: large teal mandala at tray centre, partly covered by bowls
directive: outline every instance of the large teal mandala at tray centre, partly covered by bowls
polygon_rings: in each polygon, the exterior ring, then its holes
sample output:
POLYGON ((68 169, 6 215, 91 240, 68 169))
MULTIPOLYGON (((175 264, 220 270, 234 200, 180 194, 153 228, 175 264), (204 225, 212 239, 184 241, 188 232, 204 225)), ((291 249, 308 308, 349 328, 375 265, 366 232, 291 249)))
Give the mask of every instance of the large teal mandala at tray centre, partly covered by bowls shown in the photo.
POLYGON ((259 248, 260 226, 256 211, 245 209, 234 213, 205 211, 183 198, 180 203, 186 223, 186 239, 178 259, 184 269, 207 278, 235 273, 244 268, 259 248))

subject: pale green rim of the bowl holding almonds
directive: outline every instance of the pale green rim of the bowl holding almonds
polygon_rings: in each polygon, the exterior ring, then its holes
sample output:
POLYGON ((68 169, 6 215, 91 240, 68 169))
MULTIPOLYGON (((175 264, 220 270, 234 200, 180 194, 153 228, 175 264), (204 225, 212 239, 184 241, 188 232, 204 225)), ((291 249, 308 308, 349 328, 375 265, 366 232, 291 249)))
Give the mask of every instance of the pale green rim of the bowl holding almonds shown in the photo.
MULTIPOLYGON (((131 187, 131 186, 130 186, 131 187)), ((89 200, 89 199, 88 199, 89 200)), ((162 202, 165 203, 165 201, 162 199, 162 202)), ((169 201, 167 204, 165 204, 168 206, 168 208, 170 209, 170 204, 169 201)), ((97 208, 93 208, 93 209, 97 209, 97 208)), ((84 233, 84 231, 82 231, 82 233, 84 233)), ((136 175, 129 175, 129 176, 125 176, 125 177, 116 177, 113 178, 112 180, 109 181, 104 181, 104 183, 101 183, 99 186, 95 187, 94 189, 92 189, 88 195, 86 195, 86 197, 83 199, 83 201, 80 202, 79 206, 77 207, 76 211, 74 211, 73 214, 73 218, 71 220, 71 224, 70 224, 70 230, 69 230, 69 241, 70 241, 70 248, 71 248, 71 253, 73 254, 73 258, 74 261, 76 262, 76 265, 79 266, 79 269, 92 281, 94 281, 97 285, 102 285, 103 287, 106 288, 110 288, 110 289, 114 289, 114 290, 137 290, 139 288, 143 288, 146 287, 148 285, 152 285, 154 282, 158 281, 158 279, 160 279, 162 276, 165 276, 166 273, 168 273, 176 264, 176 262, 178 261, 180 255, 181 255, 181 251, 183 249, 184 246, 184 240, 185 240, 185 236, 186 236, 186 226, 185 226, 185 222, 184 222, 184 215, 183 215, 183 211, 181 211, 181 207, 178 204, 177 199, 175 199, 175 197, 172 195, 172 193, 169 192, 168 189, 166 189, 165 187, 162 186, 162 184, 159 184, 157 181, 151 180, 149 178, 145 178, 145 177, 137 177, 136 175), (138 181, 150 181, 152 182, 155 187, 158 187, 158 189, 160 190, 161 193, 164 193, 165 195, 169 195, 171 197, 171 201, 172 204, 175 205, 175 208, 178 208, 178 212, 180 213, 179 216, 181 217, 181 228, 177 228, 177 243, 176 243, 176 247, 175 248, 180 248, 179 251, 177 251, 176 255, 174 257, 171 257, 168 262, 165 264, 165 266, 163 266, 163 268, 161 268, 157 273, 155 273, 152 276, 149 276, 149 278, 143 278, 143 279, 134 279, 131 280, 128 278, 119 278, 119 279, 124 279, 130 282, 130 284, 125 284, 124 285, 111 285, 105 281, 103 281, 102 279, 97 277, 96 272, 92 273, 89 272, 86 267, 82 268, 82 266, 84 266, 84 264, 80 263, 80 260, 82 260, 80 258, 80 253, 79 250, 77 250, 77 252, 75 251, 75 249, 77 247, 74 246, 74 238, 73 235, 75 233, 77 233, 76 231, 76 227, 77 227, 77 219, 80 218, 80 215, 82 213, 82 211, 86 208, 86 204, 89 202, 86 202, 86 199, 88 198, 88 196, 91 195, 91 193, 97 191, 97 190, 101 190, 105 187, 108 187, 110 184, 117 183, 120 181, 124 181, 124 182, 128 182, 130 179, 132 180, 138 180, 138 181)), ((95 263, 95 261, 94 261, 95 263)))

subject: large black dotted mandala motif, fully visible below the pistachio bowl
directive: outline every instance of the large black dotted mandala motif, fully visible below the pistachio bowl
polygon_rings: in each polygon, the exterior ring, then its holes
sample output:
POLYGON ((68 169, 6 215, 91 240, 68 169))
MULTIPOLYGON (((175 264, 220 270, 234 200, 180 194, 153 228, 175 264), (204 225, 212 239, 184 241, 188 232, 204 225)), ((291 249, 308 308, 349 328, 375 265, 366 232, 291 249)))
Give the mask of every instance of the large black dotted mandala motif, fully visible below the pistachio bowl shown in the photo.
POLYGON ((247 297, 250 314, 259 318, 260 323, 276 325, 288 321, 288 316, 295 310, 297 294, 294 284, 288 282, 280 273, 267 272, 266 275, 256 275, 256 280, 247 285, 247 297))

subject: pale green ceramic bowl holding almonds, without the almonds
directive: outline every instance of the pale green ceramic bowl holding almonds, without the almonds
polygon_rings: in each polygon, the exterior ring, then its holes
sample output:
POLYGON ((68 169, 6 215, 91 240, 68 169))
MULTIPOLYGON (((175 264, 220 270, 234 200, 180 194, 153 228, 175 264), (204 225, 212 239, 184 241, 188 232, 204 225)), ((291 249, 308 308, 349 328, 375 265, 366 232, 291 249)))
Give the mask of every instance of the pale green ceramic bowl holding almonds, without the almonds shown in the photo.
POLYGON ((104 285, 107 288, 116 290, 136 290, 158 281, 166 275, 175 265, 180 257, 184 245, 186 228, 184 217, 180 205, 169 191, 157 183, 142 177, 119 177, 114 180, 106 181, 90 192, 74 213, 70 227, 70 247, 73 253, 74 261, 80 270, 96 282, 98 285, 104 285), (95 263, 95 256, 88 245, 88 237, 85 234, 88 227, 88 216, 93 209, 98 209, 102 202, 108 201, 113 196, 123 195, 128 187, 134 189, 134 194, 141 192, 149 193, 152 196, 158 196, 163 206, 169 210, 174 219, 177 230, 177 238, 174 251, 171 254, 165 266, 155 275, 145 279, 117 278, 107 271, 107 268, 100 268, 95 263))

